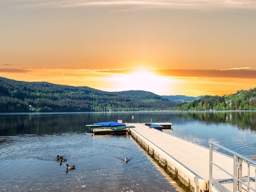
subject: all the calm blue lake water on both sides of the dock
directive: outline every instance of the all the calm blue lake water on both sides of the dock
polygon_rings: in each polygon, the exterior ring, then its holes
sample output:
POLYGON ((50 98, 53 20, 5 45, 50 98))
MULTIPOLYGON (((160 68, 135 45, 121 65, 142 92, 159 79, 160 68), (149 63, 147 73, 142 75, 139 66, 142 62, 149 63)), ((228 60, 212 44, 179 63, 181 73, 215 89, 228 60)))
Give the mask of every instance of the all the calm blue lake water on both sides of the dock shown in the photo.
POLYGON ((84 125, 117 119, 173 122, 165 132, 256 155, 256 112, 0 114, 0 191, 175 191, 132 138, 86 133, 84 125), (66 172, 57 154, 76 169, 66 172))

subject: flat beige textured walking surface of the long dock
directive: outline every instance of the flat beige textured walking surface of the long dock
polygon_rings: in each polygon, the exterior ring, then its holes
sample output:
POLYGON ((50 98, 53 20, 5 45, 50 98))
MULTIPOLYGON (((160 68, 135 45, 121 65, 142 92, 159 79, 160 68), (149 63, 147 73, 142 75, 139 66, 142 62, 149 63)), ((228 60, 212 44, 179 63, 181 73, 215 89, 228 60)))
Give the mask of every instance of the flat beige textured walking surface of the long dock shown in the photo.
MULTIPOLYGON (((148 148, 158 148, 157 150, 162 151, 162 156, 170 156, 174 161, 182 164, 188 171, 194 174, 196 179, 209 180, 209 148, 205 148, 201 145, 194 144, 192 142, 183 140, 181 138, 172 136, 170 134, 158 131, 154 128, 148 128, 141 123, 130 123, 128 125, 133 125, 135 128, 130 128, 131 134, 140 137, 148 148)), ((134 137, 133 136, 133 137, 134 137)), ((153 150, 153 149, 152 149, 153 150)), ((160 155, 160 153, 159 153, 160 155)), ((213 161, 221 165, 227 172, 233 174, 234 159, 225 154, 213 151, 213 161)), ((160 157, 159 157, 160 158, 160 157)), ((166 158, 164 158, 166 161, 166 158)), ((168 161, 168 160, 167 160, 168 161)), ((167 162, 169 163, 169 162, 167 162)), ((171 163, 172 164, 172 163, 171 163)), ((177 169, 174 164, 169 165, 172 169, 177 169)), ((179 169, 177 169, 180 171, 179 169)), ((251 168, 250 177, 255 178, 255 167, 251 168)), ((181 170, 182 172, 182 170, 181 170)), ((193 181, 191 177, 186 178, 186 173, 180 173, 183 179, 188 180, 192 186, 196 186, 198 183, 193 181), (195 182, 195 183, 194 183, 195 182)), ((247 171, 243 170, 243 175, 247 175, 247 171)), ((230 179, 230 175, 221 171, 216 166, 213 167, 213 176, 217 180, 230 179)), ((252 183, 252 187, 255 188, 255 183, 252 183)), ((233 182, 226 185, 230 191, 233 188, 233 182)))

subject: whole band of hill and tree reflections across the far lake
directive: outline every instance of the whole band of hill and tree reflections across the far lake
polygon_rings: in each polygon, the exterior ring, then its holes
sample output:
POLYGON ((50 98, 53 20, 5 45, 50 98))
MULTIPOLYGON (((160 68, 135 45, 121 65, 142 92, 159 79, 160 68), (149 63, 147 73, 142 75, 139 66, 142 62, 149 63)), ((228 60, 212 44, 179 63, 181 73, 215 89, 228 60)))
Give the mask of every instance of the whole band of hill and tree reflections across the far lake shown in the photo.
POLYGON ((199 120, 209 124, 230 123, 241 129, 256 130, 256 112, 134 112, 0 115, 0 136, 18 134, 56 134, 88 131, 85 125, 96 122, 179 122, 199 120), (132 119, 134 116, 134 119, 132 119))

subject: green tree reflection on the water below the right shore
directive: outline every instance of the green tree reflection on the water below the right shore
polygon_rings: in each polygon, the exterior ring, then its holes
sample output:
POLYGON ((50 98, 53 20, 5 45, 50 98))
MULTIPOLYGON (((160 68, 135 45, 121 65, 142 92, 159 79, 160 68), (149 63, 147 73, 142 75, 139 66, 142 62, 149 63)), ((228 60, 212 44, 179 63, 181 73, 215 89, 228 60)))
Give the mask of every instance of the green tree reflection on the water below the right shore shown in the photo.
POLYGON ((239 129, 256 131, 256 112, 226 111, 226 112, 190 112, 177 113, 177 116, 193 120, 204 121, 209 124, 230 123, 237 125, 239 129))

